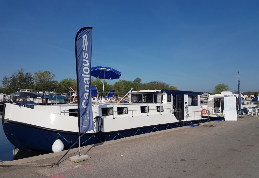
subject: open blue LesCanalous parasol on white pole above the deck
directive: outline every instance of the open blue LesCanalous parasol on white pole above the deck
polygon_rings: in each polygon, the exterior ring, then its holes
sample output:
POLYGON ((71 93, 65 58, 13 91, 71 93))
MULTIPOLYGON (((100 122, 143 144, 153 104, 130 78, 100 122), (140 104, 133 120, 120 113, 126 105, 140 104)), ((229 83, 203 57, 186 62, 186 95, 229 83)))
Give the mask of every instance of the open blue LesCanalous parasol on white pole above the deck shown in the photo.
MULTIPOLYGON (((115 70, 111 67, 103 67, 103 66, 96 66, 91 68, 91 75, 93 77, 99 77, 99 79, 119 79, 121 77, 121 72, 115 70)), ((103 90, 104 90, 104 80, 103 80, 103 88, 102 88, 102 97, 103 97, 103 90)))

